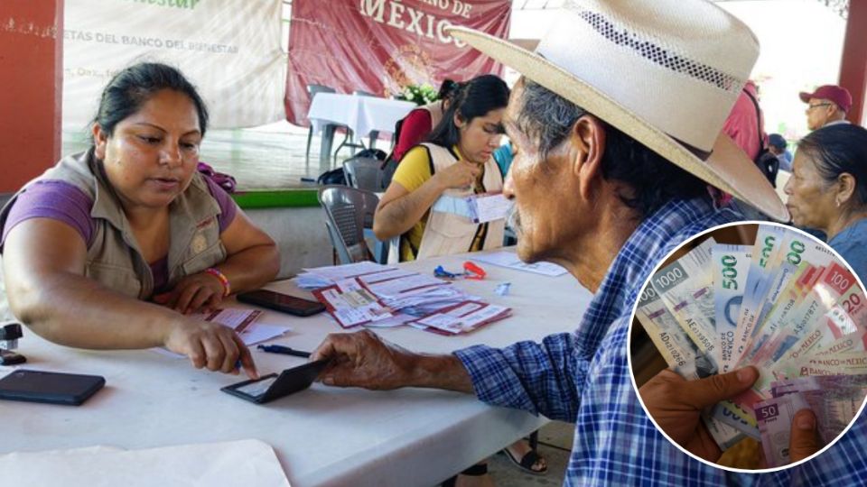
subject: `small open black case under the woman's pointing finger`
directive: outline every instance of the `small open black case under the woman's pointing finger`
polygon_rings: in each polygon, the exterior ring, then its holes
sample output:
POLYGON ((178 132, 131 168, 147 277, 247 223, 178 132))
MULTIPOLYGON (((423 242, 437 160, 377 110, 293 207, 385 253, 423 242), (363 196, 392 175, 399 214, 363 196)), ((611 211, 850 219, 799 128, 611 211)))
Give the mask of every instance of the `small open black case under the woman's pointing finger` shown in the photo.
POLYGON ((252 381, 228 385, 220 391, 256 402, 256 404, 263 404, 307 389, 319 377, 327 363, 328 360, 304 363, 298 367, 286 369, 280 372, 280 375, 270 373, 252 381))

